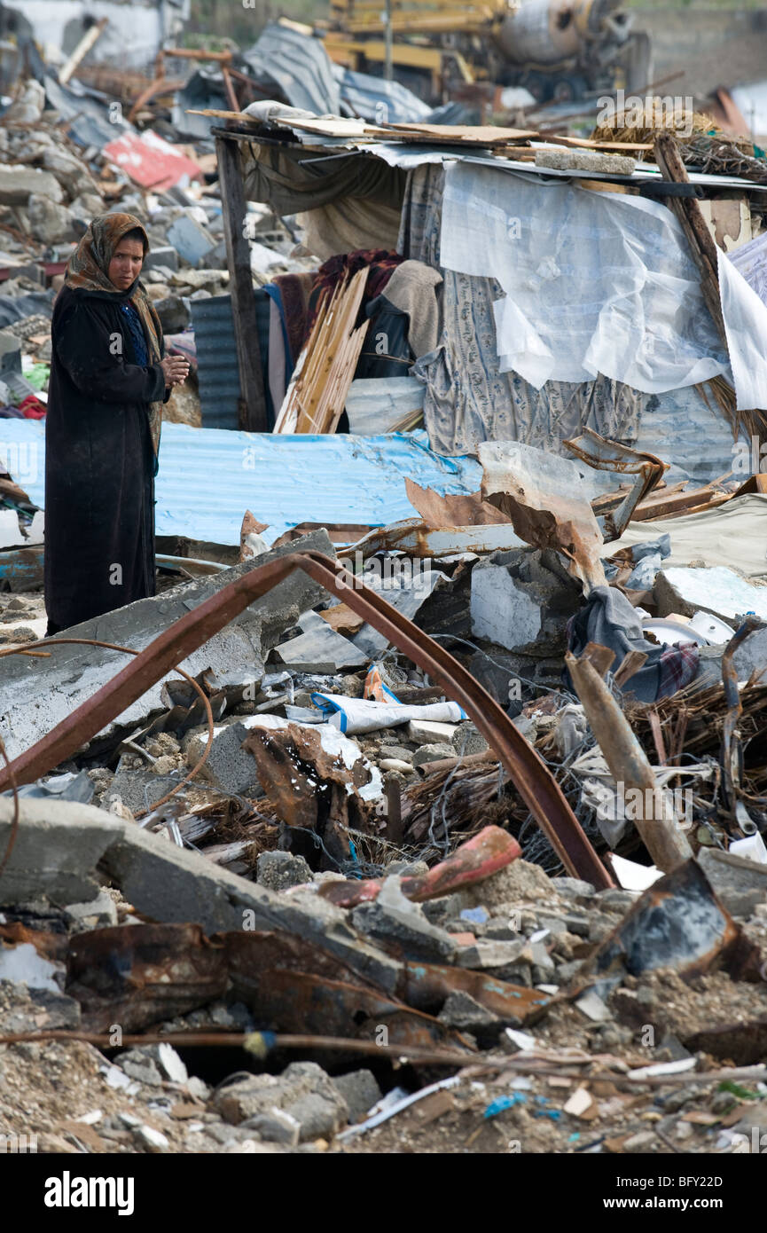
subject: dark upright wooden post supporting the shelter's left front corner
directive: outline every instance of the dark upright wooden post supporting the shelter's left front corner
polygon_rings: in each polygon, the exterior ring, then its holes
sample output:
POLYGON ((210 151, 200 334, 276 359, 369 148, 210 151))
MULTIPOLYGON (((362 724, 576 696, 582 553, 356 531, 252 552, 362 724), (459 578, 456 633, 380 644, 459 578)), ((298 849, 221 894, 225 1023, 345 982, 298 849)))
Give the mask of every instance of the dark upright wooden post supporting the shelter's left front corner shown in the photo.
POLYGON ((239 145, 216 138, 221 212, 227 247, 229 291, 232 293, 232 318, 234 344, 239 369, 239 427, 250 433, 269 432, 266 398, 264 395, 264 367, 258 342, 253 276, 250 274, 250 245, 243 234, 245 218, 245 194, 243 187, 239 145))

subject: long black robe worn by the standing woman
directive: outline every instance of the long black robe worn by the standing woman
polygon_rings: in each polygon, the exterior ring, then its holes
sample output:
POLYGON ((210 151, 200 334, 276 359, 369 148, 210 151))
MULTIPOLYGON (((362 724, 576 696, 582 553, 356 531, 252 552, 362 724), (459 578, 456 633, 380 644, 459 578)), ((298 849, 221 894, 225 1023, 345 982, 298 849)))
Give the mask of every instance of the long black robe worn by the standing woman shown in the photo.
POLYGON ((159 364, 136 364, 122 296, 64 286, 53 309, 46 418, 49 633, 154 594, 148 404, 159 364))

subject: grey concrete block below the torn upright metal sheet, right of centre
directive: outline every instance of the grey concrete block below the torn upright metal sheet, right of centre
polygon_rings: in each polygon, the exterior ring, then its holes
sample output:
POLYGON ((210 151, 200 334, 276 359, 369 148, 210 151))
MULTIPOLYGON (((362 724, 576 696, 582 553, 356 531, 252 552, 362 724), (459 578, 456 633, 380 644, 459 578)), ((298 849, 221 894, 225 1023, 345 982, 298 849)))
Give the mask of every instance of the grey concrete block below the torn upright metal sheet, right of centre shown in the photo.
POLYGON ((471 629, 508 651, 561 655, 581 588, 551 550, 517 549, 478 561, 471 573, 471 629))

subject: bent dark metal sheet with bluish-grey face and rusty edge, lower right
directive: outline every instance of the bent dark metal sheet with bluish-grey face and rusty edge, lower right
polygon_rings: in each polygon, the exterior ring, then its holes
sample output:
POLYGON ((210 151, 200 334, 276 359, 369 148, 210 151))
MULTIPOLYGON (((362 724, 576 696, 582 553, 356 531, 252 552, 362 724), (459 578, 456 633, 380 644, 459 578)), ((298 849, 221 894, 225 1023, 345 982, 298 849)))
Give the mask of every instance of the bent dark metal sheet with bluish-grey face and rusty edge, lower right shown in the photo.
POLYGON ((693 978, 724 968, 736 980, 758 979, 761 957, 719 903, 697 861, 687 861, 641 895, 578 973, 621 979, 672 968, 693 978))

